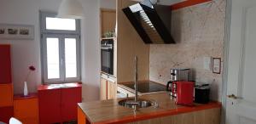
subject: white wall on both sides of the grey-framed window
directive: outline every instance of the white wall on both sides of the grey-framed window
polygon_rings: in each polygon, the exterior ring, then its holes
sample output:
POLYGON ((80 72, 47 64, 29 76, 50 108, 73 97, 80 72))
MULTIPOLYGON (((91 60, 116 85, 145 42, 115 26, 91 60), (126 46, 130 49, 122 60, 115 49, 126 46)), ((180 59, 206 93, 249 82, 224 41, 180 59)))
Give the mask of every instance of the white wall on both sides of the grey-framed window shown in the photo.
MULTIPOLYGON (((81 0, 82 1, 82 0, 81 0)), ((39 10, 56 12, 61 0, 0 0, 0 23, 35 26, 34 40, 0 40, 12 45, 12 77, 15 93, 22 93, 27 67, 37 70, 28 80, 29 92, 37 92, 41 84, 39 10)), ((82 82, 83 98, 98 99, 100 82, 99 6, 98 0, 83 0, 82 20, 82 82)))

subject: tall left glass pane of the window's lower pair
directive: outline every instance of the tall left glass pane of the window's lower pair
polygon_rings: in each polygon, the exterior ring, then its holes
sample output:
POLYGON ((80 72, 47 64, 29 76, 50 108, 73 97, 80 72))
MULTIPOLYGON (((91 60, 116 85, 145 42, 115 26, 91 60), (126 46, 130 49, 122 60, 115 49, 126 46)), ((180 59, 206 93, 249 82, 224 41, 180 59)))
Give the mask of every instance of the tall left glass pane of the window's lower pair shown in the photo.
POLYGON ((60 78, 59 39, 47 38, 46 44, 48 79, 60 78))

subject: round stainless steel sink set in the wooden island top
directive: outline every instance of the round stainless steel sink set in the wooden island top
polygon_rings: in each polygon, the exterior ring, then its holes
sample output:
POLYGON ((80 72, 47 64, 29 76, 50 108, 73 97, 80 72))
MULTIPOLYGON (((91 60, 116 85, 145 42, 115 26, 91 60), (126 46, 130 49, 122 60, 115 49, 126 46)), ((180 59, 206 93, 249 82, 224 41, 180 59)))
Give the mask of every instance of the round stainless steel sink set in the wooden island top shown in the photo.
POLYGON ((137 99, 137 101, 134 101, 134 99, 122 99, 119 101, 119 105, 125 106, 127 108, 147 108, 153 105, 153 103, 150 100, 146 99, 137 99))

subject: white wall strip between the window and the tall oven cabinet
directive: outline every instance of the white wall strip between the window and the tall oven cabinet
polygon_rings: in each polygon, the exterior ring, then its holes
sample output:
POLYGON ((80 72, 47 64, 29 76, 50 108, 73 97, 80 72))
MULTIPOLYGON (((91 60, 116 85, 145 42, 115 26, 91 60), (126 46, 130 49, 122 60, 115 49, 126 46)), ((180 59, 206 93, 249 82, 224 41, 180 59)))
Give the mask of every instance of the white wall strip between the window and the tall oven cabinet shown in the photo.
POLYGON ((99 99, 100 86, 100 9, 99 1, 83 0, 84 20, 82 23, 82 82, 85 101, 99 99))

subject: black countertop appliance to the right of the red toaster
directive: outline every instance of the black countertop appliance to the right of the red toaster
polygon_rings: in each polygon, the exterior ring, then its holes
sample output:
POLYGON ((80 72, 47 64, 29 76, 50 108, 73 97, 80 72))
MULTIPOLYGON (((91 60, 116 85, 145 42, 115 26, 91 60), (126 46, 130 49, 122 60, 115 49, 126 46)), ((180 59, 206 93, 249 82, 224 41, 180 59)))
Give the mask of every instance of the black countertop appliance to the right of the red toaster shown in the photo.
POLYGON ((195 103, 207 104, 209 103, 210 85, 209 84, 195 84, 195 103))

